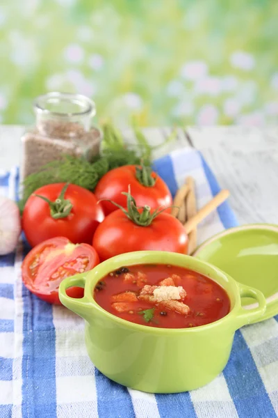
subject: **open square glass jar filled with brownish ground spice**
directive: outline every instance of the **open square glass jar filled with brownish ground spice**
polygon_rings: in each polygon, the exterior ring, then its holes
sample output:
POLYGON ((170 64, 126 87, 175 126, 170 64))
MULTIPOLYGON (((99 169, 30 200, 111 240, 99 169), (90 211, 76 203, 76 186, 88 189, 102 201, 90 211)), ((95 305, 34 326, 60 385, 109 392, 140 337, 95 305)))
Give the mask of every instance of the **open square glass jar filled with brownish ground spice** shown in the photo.
POLYGON ((80 94, 47 93, 35 99, 35 127, 22 137, 22 178, 64 154, 91 160, 99 153, 101 132, 92 126, 95 103, 80 94))

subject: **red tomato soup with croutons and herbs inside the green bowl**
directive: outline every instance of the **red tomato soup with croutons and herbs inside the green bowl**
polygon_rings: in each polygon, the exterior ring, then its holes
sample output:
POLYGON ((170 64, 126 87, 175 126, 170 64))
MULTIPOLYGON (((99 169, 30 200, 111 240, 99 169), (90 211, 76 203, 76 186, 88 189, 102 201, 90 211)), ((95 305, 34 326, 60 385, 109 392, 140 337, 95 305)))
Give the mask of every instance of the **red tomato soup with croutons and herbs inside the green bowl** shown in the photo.
POLYGON ((94 298, 106 311, 140 325, 188 328, 229 314, 229 297, 208 277, 158 264, 123 266, 95 286, 94 298))

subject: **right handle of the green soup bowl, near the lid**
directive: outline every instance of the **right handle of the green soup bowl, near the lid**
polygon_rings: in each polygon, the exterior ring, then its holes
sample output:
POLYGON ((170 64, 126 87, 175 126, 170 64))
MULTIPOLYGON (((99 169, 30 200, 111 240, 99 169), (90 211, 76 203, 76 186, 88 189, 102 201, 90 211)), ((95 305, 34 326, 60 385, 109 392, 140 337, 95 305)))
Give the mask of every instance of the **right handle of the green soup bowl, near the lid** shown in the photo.
POLYGON ((240 298, 252 297, 252 299, 259 303, 259 307, 253 309, 243 309, 243 307, 241 307, 238 315, 236 316, 236 329, 261 318, 266 309, 265 297, 261 291, 250 286, 245 286, 244 284, 238 284, 238 288, 240 292, 240 298))

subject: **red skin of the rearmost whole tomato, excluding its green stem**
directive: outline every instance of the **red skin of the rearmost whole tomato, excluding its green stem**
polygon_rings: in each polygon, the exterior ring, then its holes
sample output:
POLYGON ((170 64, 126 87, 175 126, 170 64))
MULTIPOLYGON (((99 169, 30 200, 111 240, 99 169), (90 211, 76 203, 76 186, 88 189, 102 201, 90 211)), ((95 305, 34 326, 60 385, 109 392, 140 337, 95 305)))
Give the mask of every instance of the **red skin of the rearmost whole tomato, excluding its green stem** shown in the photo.
MULTIPOLYGON (((152 172, 152 177, 156 177, 156 183, 152 187, 141 185, 136 178, 136 166, 126 165, 108 171, 95 188, 95 196, 98 200, 110 199, 122 206, 126 206, 126 196, 122 192, 127 192, 129 185, 131 186, 131 195, 136 200, 136 206, 147 205, 152 209, 160 206, 171 206, 172 195, 166 183, 156 173, 152 172)), ((105 215, 117 210, 117 206, 108 201, 101 201, 105 215)), ((170 213, 171 208, 165 210, 170 213)))

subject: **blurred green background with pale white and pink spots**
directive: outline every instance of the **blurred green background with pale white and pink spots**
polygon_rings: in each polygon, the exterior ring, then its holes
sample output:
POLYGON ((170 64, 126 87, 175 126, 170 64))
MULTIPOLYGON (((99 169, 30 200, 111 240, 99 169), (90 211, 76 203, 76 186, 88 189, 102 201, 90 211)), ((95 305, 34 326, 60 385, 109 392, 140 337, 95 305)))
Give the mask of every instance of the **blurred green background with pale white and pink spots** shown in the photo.
POLYGON ((93 98, 120 125, 278 120, 276 0, 0 2, 0 121, 47 91, 93 98))

